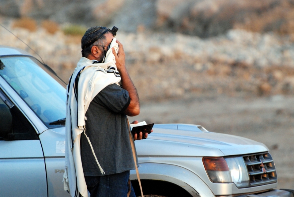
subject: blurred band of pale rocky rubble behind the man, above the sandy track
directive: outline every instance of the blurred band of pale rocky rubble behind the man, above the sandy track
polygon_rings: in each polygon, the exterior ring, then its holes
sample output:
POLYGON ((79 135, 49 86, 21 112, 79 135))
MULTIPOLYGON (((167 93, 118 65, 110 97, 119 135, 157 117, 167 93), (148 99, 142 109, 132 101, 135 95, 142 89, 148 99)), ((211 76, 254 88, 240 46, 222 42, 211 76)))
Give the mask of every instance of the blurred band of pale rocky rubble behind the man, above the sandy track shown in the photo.
MULTIPOLYGON (((13 21, 2 19, 8 28, 13 21)), ((13 28, 68 81, 81 57, 80 38, 61 30, 13 28)), ((4 28, 0 44, 37 56, 4 28)), ((207 39, 179 33, 119 32, 126 64, 142 101, 199 95, 268 96, 294 93, 294 35, 232 29, 207 39)), ((38 57, 39 58, 39 57, 38 57)), ((40 58, 39 58, 40 59, 40 58)))

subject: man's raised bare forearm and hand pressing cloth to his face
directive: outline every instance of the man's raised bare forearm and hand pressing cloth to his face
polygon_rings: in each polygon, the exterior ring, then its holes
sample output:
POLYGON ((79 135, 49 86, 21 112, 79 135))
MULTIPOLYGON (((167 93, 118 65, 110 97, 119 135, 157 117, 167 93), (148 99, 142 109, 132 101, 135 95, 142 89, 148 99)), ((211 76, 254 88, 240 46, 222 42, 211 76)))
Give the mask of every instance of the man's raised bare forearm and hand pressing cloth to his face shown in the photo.
POLYGON ((112 53, 115 56, 116 67, 119 71, 119 74, 122 78, 122 87, 123 89, 129 92, 129 97, 131 99, 128 108, 124 112, 127 116, 137 116, 140 113, 140 103, 138 98, 137 90, 131 80, 128 71, 126 70, 125 65, 125 52, 123 51, 123 45, 116 40, 119 44, 119 53, 116 54, 114 48, 112 48, 112 53))

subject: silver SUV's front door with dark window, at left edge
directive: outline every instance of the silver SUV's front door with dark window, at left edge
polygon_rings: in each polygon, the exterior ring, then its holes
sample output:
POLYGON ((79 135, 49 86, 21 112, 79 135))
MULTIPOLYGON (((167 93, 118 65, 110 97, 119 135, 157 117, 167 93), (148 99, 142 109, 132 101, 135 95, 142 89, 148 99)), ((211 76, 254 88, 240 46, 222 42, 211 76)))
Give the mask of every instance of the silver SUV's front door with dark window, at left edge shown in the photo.
POLYGON ((0 196, 47 196, 45 162, 36 130, 1 89, 0 105, 0 114, 6 108, 12 116, 12 133, 0 138, 0 196))

